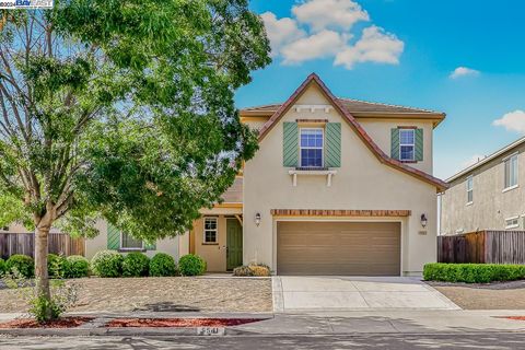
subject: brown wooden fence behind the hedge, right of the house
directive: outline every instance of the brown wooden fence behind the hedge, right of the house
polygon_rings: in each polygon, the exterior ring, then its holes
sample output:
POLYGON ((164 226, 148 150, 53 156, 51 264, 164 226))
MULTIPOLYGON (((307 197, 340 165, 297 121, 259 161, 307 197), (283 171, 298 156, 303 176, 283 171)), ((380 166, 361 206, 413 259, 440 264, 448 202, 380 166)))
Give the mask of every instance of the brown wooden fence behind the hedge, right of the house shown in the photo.
POLYGON ((479 231, 439 236, 438 261, 525 264, 525 231, 479 231))

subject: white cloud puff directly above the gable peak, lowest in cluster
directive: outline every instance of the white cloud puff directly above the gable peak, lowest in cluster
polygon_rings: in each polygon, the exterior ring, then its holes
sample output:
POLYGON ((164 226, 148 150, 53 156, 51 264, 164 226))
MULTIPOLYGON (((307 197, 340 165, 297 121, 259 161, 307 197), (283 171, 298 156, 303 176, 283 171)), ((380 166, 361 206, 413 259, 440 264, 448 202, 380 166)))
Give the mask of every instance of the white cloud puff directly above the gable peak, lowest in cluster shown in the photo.
POLYGON ((346 43, 347 38, 343 35, 334 31, 323 31, 283 47, 283 63, 296 65, 316 58, 332 57, 346 43))

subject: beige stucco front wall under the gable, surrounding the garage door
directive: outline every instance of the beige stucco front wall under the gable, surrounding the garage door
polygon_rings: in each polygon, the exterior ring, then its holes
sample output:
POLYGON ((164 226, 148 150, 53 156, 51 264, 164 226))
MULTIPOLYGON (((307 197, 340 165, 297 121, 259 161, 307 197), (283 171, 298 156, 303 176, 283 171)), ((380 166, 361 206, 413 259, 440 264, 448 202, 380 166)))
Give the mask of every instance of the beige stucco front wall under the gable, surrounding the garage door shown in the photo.
MULTIPOLYGON (((317 88, 310 88, 296 104, 328 102, 317 88)), ((386 144, 385 141, 378 143, 386 144)), ((292 108, 259 145, 244 170, 244 264, 265 262, 276 270, 276 220, 279 218, 271 217, 271 209, 411 210, 409 218, 389 219, 402 224, 401 270, 405 275, 419 273, 423 264, 435 261, 435 187, 381 164, 334 109, 327 114, 325 110, 296 113, 292 108), (326 176, 299 176, 298 186, 292 186, 289 168, 282 166, 282 122, 296 118, 341 122, 341 167, 337 168, 331 187, 327 187, 326 176), (254 223, 257 212, 262 217, 259 226, 254 223), (429 219, 425 230, 420 224, 422 213, 429 219)), ((425 158, 431 156, 425 153, 425 158)), ((431 159, 428 161, 432 163, 431 159)))

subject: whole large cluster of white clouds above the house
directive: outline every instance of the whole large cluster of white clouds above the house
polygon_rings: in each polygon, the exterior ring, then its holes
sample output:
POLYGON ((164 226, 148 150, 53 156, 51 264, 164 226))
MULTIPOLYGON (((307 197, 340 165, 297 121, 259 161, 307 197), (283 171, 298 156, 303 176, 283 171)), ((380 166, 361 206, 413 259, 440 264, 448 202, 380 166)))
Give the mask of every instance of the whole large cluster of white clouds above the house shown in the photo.
POLYGON ((334 65, 352 69, 357 63, 398 65, 405 44, 377 25, 363 30, 357 42, 352 26, 370 21, 368 12, 352 0, 305 0, 292 8, 292 18, 261 14, 272 56, 283 65, 334 59, 334 65))

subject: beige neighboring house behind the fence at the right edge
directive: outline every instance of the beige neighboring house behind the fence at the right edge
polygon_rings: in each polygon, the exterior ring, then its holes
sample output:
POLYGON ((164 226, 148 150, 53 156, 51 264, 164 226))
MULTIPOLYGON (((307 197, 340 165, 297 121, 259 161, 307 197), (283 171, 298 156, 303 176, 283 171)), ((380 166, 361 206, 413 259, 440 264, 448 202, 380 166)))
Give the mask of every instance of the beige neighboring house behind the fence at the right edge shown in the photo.
POLYGON ((525 138, 447 179, 441 234, 525 230, 525 138))

